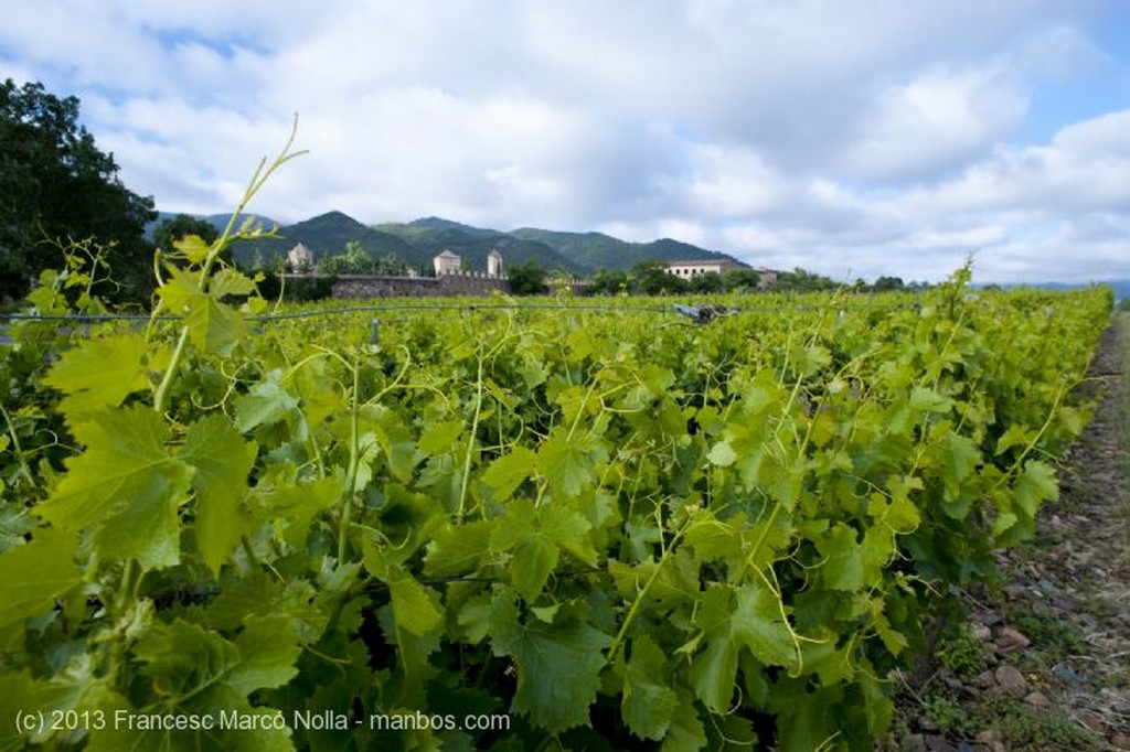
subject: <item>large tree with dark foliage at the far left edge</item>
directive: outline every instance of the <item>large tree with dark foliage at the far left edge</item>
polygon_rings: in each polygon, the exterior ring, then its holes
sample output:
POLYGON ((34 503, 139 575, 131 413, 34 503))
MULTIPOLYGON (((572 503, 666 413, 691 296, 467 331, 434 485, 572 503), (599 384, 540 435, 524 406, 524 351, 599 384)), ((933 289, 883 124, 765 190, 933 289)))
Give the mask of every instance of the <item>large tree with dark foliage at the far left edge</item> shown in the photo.
POLYGON ((153 198, 125 189, 78 114, 77 97, 42 84, 0 86, 0 296, 23 296, 41 270, 62 268, 61 245, 89 237, 110 248, 120 283, 101 294, 144 299, 151 290, 153 198))

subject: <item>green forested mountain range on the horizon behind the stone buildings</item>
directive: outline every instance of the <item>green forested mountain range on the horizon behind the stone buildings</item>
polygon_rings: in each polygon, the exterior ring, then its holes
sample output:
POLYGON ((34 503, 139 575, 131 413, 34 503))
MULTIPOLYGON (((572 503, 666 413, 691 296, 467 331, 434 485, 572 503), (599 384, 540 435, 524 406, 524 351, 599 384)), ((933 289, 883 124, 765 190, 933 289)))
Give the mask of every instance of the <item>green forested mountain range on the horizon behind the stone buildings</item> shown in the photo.
MULTIPOLYGON (((157 221, 172 219, 174 216, 162 212, 157 221)), ((223 229, 229 217, 210 215, 201 218, 223 229)), ((264 227, 277 224, 268 217, 257 217, 264 227)), ((576 276, 589 276, 600 269, 626 270, 645 260, 718 259, 746 265, 723 253, 670 238, 629 243, 602 233, 563 233, 532 227, 502 231, 438 217, 410 222, 365 225, 340 211, 330 211, 301 222, 279 226, 278 233, 281 239, 236 244, 232 248, 235 260, 240 263, 252 263, 255 260, 270 263, 286 256, 295 244, 302 243, 314 253, 316 261, 342 253, 346 243, 356 241, 375 259, 392 254, 417 269, 431 269, 432 257, 445 248, 458 253, 476 270, 486 270, 487 254, 492 248, 502 253, 506 264, 534 261, 547 271, 576 276)))

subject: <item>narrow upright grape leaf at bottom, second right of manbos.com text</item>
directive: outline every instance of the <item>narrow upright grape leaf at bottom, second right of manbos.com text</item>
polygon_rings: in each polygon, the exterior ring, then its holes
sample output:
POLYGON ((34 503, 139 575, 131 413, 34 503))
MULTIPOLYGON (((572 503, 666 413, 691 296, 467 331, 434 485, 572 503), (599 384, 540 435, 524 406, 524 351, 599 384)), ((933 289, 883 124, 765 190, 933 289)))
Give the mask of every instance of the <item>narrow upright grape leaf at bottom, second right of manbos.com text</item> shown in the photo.
POLYGON ((647 635, 632 640, 620 710, 632 733, 660 741, 675 720, 679 698, 667 676, 667 656, 647 635))

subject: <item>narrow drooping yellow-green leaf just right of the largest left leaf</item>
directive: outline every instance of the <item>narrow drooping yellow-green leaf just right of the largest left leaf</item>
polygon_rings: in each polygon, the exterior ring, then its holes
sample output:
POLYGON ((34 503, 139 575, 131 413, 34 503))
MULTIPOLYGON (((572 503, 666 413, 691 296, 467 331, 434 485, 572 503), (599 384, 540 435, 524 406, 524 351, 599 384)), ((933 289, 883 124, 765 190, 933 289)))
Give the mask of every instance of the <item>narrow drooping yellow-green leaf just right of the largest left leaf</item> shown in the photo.
POLYGON ((240 429, 220 413, 189 426, 184 437, 179 456, 195 470, 197 546, 214 572, 251 532, 241 504, 257 452, 255 444, 244 441, 240 429))

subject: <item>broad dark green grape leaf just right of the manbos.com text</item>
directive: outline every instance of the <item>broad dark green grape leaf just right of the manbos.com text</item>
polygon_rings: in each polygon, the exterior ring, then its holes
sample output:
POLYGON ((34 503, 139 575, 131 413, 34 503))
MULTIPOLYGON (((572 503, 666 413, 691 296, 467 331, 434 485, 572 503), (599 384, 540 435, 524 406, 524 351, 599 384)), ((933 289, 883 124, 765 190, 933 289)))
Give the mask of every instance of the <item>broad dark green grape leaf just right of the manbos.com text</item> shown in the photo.
POLYGON ((494 654, 513 658, 518 667, 511 710, 551 734, 588 725, 611 637, 574 618, 522 623, 505 591, 495 593, 490 615, 494 654))

